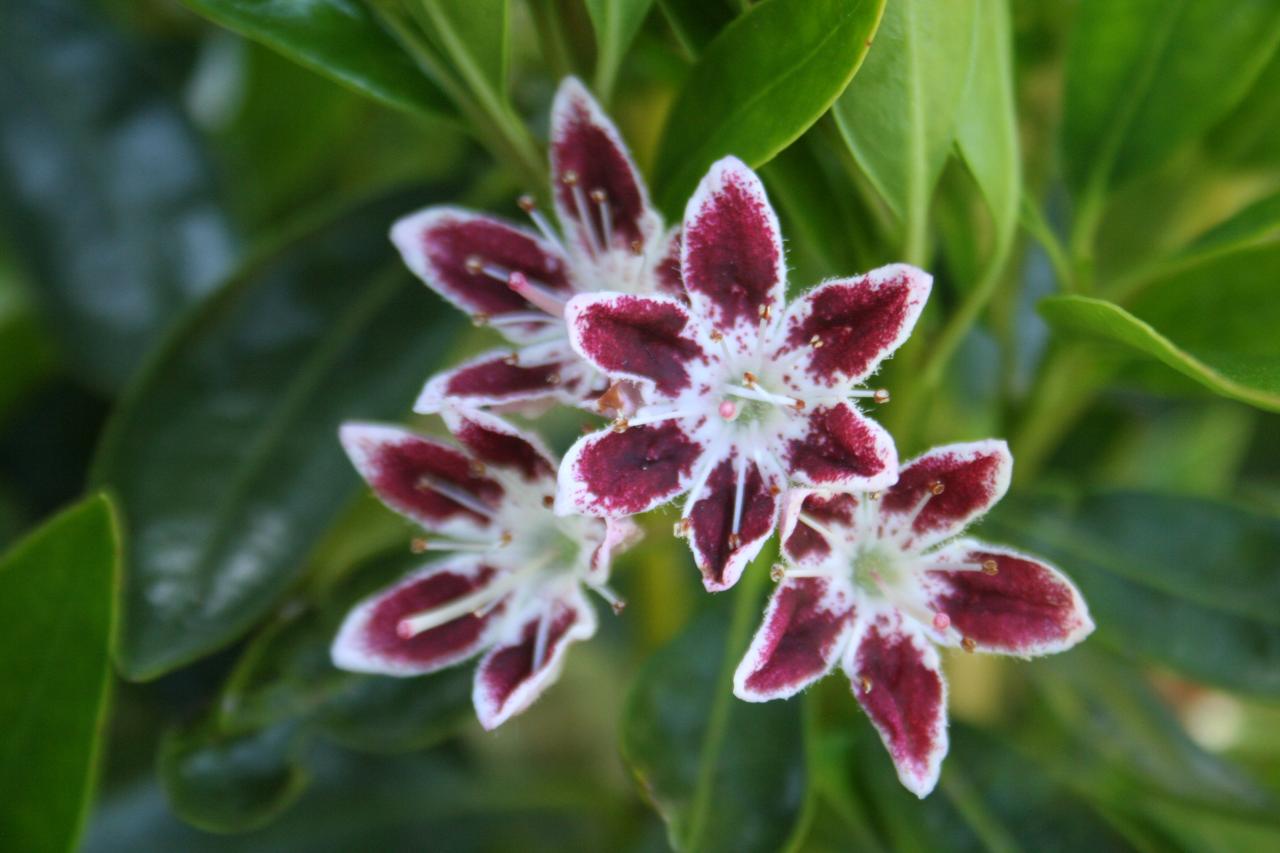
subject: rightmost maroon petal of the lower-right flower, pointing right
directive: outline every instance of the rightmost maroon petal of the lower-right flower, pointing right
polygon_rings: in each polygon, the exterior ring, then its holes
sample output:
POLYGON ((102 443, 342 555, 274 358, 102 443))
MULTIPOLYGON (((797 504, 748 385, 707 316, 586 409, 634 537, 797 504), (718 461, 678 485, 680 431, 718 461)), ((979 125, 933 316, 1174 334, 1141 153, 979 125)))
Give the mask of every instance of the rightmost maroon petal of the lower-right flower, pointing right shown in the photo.
POLYGON ((1093 630, 1080 592, 1036 557, 973 539, 929 556, 943 566, 927 573, 929 608, 947 616, 957 643, 1034 657, 1071 648, 1093 630))

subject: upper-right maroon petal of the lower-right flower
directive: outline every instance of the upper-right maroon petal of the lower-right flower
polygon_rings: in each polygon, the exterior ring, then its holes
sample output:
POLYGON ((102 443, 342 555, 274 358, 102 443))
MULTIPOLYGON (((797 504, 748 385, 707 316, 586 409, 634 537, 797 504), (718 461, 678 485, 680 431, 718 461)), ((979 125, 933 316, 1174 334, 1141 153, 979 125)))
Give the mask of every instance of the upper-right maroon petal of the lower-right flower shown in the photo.
POLYGON ((1009 489, 1014 459, 1002 441, 934 447, 902 465, 881 508, 887 526, 919 549, 952 537, 1009 489))

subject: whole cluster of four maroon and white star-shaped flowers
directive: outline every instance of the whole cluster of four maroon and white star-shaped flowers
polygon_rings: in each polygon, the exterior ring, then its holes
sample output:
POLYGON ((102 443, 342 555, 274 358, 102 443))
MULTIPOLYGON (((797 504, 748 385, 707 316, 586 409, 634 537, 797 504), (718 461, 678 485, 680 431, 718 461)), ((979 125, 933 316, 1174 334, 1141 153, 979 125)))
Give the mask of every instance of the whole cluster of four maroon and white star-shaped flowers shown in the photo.
POLYGON ((417 675, 484 653, 485 727, 557 678, 591 637, 593 590, 637 538, 628 516, 684 496, 704 587, 732 587, 781 529, 782 562, 733 692, 795 694, 837 661, 923 797, 947 749, 937 646, 1029 657, 1093 628, 1043 561, 960 534, 998 501, 1004 442, 899 464, 863 411, 864 388, 910 336, 932 279, 895 264, 787 301, 781 229, 759 178, 716 163, 667 228, 613 124, 575 79, 552 110, 552 197, 532 227, 453 207, 396 223, 392 240, 440 296, 512 345, 431 378, 416 410, 460 446, 347 424, 342 442, 376 494, 445 551, 361 602, 333 647, 344 669, 417 675), (498 411, 556 403, 608 415, 557 464, 498 411))

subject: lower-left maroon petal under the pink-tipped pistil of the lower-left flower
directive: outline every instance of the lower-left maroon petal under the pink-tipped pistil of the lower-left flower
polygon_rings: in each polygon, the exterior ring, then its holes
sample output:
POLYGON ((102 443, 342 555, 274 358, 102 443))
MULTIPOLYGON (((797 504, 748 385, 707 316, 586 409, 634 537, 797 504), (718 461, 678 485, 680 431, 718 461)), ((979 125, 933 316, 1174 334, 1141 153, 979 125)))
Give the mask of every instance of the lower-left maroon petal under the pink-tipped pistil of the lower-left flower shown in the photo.
POLYGON ((500 571, 474 557, 428 566, 366 598, 343 620, 333 642, 334 666, 353 672, 422 675, 463 661, 484 646, 500 621, 504 605, 484 615, 467 612, 438 628, 404 637, 404 619, 481 593, 500 571))

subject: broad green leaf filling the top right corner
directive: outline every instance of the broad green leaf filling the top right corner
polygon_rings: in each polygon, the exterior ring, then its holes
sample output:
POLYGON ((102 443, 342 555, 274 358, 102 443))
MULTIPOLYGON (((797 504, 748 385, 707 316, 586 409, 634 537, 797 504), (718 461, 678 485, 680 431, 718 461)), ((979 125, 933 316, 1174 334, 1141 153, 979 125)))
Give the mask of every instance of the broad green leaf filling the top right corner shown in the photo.
POLYGON ((1240 101, 1277 44, 1271 0, 1084 0, 1062 108, 1070 187, 1102 193, 1161 165, 1240 101))

